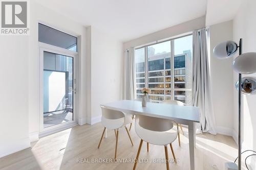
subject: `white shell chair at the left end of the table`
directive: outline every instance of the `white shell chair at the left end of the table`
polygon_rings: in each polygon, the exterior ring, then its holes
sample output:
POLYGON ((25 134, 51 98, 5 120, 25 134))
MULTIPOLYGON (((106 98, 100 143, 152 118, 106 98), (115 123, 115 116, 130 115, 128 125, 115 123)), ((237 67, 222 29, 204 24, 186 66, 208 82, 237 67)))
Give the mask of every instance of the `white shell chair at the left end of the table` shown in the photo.
POLYGON ((102 133, 100 141, 99 141, 98 149, 100 147, 100 143, 101 143, 101 140, 103 138, 106 128, 115 130, 115 135, 116 135, 115 159, 116 159, 119 128, 125 127, 125 130, 129 136, 132 146, 133 146, 133 141, 130 136, 129 130, 126 128, 126 125, 131 124, 131 122, 133 120, 132 120, 131 114, 125 114, 121 111, 111 110, 111 109, 107 109, 104 107, 101 107, 101 110, 102 110, 101 123, 104 126, 104 130, 103 130, 103 133, 102 133))

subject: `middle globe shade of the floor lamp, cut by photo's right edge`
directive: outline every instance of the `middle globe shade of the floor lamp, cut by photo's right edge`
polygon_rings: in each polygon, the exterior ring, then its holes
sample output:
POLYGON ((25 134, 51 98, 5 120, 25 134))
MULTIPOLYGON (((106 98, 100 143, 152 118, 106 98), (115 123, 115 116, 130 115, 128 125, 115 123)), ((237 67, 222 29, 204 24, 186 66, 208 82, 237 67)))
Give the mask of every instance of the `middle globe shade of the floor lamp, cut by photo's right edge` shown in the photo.
POLYGON ((244 53, 233 61, 233 69, 240 74, 256 72, 256 53, 244 53))

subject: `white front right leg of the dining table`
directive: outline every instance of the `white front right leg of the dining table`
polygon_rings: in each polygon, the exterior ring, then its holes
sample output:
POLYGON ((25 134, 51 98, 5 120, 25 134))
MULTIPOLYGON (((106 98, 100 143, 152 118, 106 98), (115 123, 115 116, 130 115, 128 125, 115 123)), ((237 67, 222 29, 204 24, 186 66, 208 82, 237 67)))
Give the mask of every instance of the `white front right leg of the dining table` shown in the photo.
POLYGON ((195 170, 196 133, 195 133, 194 122, 188 123, 188 141, 189 141, 190 170, 195 170))

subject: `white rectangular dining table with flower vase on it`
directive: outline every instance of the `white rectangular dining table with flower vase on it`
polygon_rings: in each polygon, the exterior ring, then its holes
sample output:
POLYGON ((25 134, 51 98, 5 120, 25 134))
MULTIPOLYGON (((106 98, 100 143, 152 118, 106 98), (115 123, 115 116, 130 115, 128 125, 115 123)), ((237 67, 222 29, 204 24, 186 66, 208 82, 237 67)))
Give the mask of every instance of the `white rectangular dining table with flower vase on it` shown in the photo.
MULTIPOLYGON (((121 100, 100 106, 124 112, 133 115, 146 115, 158 118, 172 119, 178 124, 188 126, 188 142, 189 142, 189 158, 190 170, 195 170, 195 146, 196 133, 195 123, 199 123, 200 109, 194 106, 178 106, 161 103, 147 103, 146 107, 142 107, 141 102, 131 100, 121 100)), ((105 132, 105 137, 107 133, 105 132)))

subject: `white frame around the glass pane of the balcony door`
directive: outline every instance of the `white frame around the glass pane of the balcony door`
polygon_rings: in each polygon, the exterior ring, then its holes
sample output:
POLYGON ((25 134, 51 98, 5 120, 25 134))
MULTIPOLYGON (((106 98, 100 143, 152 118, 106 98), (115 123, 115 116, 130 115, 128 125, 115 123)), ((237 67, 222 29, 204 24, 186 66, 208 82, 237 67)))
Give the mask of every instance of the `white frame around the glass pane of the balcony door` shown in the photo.
POLYGON ((52 134, 73 126, 76 126, 78 123, 78 113, 77 113, 77 94, 78 94, 78 68, 77 68, 77 61, 78 61, 78 53, 74 51, 67 50, 65 48, 61 48, 58 46, 50 45, 43 42, 38 42, 38 50, 39 50, 39 60, 40 60, 40 88, 39 88, 39 101, 40 101, 40 110, 39 110, 39 136, 46 136, 48 134, 52 134), (63 56, 68 56, 73 58, 73 89, 76 90, 73 93, 73 120, 66 123, 61 123, 58 125, 54 125, 51 127, 44 128, 44 51, 60 54, 63 56))

